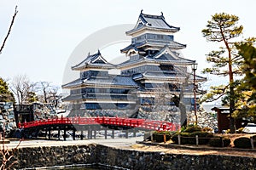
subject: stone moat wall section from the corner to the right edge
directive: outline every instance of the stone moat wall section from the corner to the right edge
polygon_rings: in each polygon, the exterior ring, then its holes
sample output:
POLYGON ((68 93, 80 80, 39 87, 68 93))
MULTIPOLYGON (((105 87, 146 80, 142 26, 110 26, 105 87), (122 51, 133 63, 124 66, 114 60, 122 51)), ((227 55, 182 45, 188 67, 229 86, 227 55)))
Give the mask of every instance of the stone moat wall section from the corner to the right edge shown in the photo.
POLYGON ((193 156, 120 150, 97 145, 97 156, 105 165, 128 169, 256 169, 256 158, 239 156, 193 156))

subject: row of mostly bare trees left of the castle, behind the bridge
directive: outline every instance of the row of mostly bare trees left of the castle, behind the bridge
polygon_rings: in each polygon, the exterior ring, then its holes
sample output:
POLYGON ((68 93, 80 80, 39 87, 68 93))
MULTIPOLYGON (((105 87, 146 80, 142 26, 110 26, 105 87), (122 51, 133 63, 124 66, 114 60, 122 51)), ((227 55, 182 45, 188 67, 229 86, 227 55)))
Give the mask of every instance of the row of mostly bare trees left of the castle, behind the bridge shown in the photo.
POLYGON ((60 87, 51 82, 31 82, 26 75, 13 78, 8 84, 0 77, 0 101, 16 104, 31 104, 33 102, 58 105, 62 95, 60 87))

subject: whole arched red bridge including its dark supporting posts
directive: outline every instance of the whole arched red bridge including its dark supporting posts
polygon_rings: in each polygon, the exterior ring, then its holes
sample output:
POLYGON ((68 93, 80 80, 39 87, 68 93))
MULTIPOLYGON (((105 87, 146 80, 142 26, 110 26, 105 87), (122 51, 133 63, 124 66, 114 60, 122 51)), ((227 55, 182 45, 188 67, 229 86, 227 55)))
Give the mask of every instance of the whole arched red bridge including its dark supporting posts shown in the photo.
MULTIPOLYGON (((24 122, 19 123, 20 128, 24 129, 24 132, 27 135, 37 136, 39 131, 45 131, 49 133, 54 130, 58 130, 59 136, 60 131, 64 131, 64 140, 66 140, 66 132, 72 130, 73 131, 73 139, 75 139, 75 132, 81 131, 81 139, 83 139, 82 134, 84 130, 88 130, 88 137, 92 136, 92 131, 105 129, 107 133, 107 129, 121 129, 128 130, 136 129, 136 130, 144 130, 144 131, 177 131, 180 125, 165 122, 165 121, 154 121, 148 119, 137 119, 137 118, 124 118, 124 117, 105 117, 105 116, 97 116, 97 117, 61 117, 61 118, 52 118, 45 119, 40 121, 33 122, 24 122)), ((105 136, 107 139, 107 137, 105 136)))

